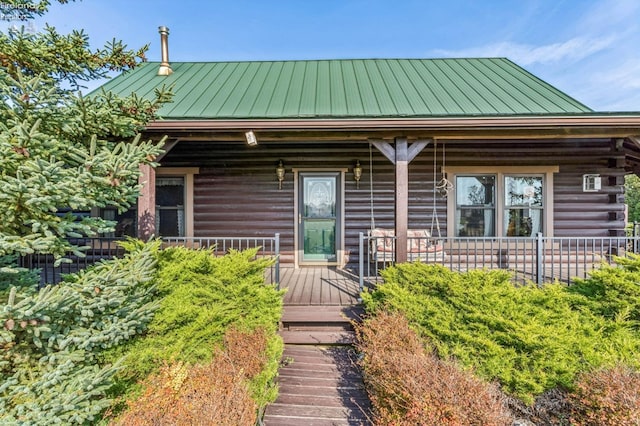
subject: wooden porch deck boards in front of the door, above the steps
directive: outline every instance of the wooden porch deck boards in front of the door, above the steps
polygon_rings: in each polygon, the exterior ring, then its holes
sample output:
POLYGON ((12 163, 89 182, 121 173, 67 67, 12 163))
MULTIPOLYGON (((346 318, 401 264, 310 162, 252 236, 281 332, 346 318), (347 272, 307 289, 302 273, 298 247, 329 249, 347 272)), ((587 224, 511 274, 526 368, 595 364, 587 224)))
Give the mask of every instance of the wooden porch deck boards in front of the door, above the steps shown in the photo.
POLYGON ((356 305, 359 303, 358 274, 336 267, 284 267, 280 288, 287 289, 287 305, 356 305))

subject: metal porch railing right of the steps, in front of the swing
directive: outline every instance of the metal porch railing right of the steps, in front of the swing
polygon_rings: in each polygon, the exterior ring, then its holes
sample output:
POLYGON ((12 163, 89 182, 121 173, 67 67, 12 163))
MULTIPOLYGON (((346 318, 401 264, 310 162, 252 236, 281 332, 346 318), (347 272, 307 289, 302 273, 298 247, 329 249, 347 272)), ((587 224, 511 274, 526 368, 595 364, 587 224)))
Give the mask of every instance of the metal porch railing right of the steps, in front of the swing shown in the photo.
MULTIPOLYGON (((395 263, 394 236, 360 233, 360 288, 379 280, 380 271, 395 263)), ((537 284, 560 281, 570 284, 586 278, 614 256, 638 252, 640 237, 446 237, 407 241, 407 260, 437 263, 454 271, 505 269, 517 282, 537 284)))

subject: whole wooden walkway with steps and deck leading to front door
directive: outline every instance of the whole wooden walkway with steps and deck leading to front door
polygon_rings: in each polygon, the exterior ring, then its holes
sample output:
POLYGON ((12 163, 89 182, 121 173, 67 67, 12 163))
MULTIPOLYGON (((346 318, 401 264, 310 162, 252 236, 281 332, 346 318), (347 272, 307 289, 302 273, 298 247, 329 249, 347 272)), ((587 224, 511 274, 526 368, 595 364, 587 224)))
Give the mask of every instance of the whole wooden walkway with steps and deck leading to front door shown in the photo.
POLYGON ((351 321, 363 314, 358 276, 336 268, 283 268, 278 399, 266 426, 371 425, 371 406, 353 350, 351 321))

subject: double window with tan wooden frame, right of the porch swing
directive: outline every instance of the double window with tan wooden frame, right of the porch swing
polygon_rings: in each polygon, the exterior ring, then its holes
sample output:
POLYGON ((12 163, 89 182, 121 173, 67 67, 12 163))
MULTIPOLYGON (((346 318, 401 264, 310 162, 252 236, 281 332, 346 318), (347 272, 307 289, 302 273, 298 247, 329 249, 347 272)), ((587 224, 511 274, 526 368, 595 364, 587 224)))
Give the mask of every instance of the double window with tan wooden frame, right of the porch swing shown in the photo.
POLYGON ((552 236, 553 173, 557 167, 447 168, 450 236, 552 236))

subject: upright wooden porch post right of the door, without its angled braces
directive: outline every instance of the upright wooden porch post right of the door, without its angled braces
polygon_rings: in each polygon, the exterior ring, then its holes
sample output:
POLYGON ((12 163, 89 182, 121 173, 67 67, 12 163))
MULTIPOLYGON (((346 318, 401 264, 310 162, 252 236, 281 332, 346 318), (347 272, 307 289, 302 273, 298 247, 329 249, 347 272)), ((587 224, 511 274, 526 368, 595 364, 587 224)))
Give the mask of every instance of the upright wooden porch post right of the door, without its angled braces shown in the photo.
POLYGON ((407 261, 409 154, 407 138, 396 138, 396 263, 407 261))

